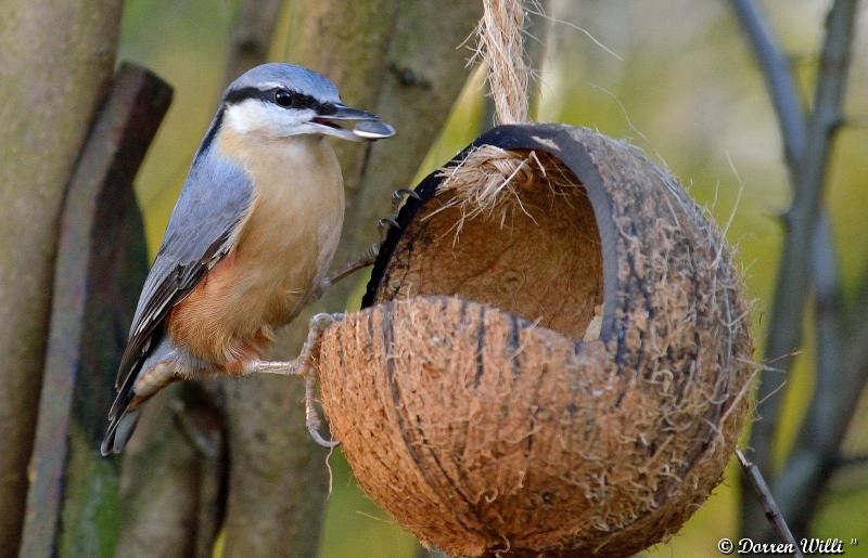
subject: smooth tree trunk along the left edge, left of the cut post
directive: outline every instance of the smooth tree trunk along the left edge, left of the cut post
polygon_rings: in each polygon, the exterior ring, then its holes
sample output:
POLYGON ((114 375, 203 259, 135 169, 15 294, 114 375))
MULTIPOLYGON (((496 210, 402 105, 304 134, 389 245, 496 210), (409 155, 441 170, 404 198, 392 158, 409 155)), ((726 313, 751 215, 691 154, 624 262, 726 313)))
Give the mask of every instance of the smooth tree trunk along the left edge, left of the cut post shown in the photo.
POLYGON ((56 219, 112 76, 120 0, 0 9, 0 555, 14 556, 48 327, 56 219))

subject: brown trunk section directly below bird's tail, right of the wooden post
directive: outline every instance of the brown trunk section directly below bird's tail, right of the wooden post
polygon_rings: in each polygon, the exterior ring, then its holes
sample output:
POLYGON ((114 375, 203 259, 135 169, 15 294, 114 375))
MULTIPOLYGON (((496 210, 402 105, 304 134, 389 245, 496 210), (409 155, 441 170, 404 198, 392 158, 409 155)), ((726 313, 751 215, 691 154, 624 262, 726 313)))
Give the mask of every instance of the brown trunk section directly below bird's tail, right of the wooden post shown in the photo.
POLYGON ((149 402, 124 455, 116 557, 210 558, 225 509, 219 413, 194 385, 149 402))

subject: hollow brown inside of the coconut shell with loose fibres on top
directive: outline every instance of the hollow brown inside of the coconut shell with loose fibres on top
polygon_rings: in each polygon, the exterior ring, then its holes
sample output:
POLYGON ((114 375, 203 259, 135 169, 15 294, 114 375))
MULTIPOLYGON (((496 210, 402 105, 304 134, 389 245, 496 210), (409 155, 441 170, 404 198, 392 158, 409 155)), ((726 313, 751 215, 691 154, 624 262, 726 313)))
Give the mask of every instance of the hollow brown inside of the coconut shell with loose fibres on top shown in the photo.
POLYGON ((601 311, 603 270, 575 174, 546 153, 484 145, 439 178, 392 248, 376 300, 456 296, 583 339, 601 311))

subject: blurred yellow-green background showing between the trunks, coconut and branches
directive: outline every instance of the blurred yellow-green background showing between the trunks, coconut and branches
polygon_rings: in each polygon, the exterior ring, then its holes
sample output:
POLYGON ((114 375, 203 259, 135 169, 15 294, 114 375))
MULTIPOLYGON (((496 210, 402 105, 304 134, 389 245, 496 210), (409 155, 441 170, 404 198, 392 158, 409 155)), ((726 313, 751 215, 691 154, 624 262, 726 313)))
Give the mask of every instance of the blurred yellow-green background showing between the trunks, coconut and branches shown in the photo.
MULTIPOLYGON (((718 222, 729 222, 729 241, 743 265, 757 341, 763 339, 774 286, 789 186, 782 150, 762 77, 723 0, 553 2, 550 41, 538 86, 536 118, 597 128, 628 138, 651 158, 668 166, 718 222), (580 26, 623 60, 596 46, 580 26)), ((828 2, 766 2, 777 33, 796 61, 805 91, 813 87, 816 48, 828 2)), ((213 116, 222 88, 228 31, 237 7, 222 0, 130 0, 119 60, 144 64, 176 88, 175 103, 137 183, 152 252, 158 247, 192 155, 213 116)), ((868 17, 858 22, 846 114, 868 115, 868 17)), ((272 59, 281 60, 290 22, 281 22, 272 59), (283 46, 283 47, 282 47, 283 46)), ((541 30, 535 30, 541 35, 541 30)), ((462 55, 469 57, 470 52, 462 55)), ((469 74, 471 70, 469 70, 469 74)), ((469 80, 449 124, 420 169, 436 168, 482 130, 482 79, 469 80)), ((400 130, 398 130, 400 133, 400 130)), ((835 224, 844 278, 852 289, 868 273, 868 128, 845 128, 835 145, 827 200, 835 224)), ((373 236, 374 230, 371 229, 373 236)), ((357 307, 355 307, 357 308, 357 307)), ((787 455, 810 397, 813 328, 787 390, 783 425, 776 447, 787 455)), ((774 378, 774 373, 771 376, 774 378)), ((857 414, 846 450, 868 452, 868 410, 857 414)), ((321 556, 410 557, 411 535, 368 501, 340 451, 330 458, 333 489, 321 556)), ((324 464, 323 464, 324 466, 324 464)), ((724 484, 671 542, 650 556, 715 556, 722 536, 737 535, 738 475, 730 466, 724 484)), ((291 495, 288 495, 291 497, 291 495)), ((752 496, 749 496, 752 497, 752 496)), ((868 478, 839 475, 822 502, 817 535, 859 537, 868 543, 868 478)))

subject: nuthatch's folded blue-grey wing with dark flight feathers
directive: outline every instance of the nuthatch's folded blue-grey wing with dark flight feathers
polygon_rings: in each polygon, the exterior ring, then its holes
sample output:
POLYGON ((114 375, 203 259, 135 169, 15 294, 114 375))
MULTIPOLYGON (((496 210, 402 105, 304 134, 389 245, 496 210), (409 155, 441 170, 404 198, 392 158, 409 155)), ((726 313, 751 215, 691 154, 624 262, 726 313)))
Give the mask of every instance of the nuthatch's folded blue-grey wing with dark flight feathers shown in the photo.
MULTIPOLYGON (((253 183, 240 165, 215 156, 213 150, 196 157, 142 287, 116 389, 146 355, 171 308, 232 248, 233 232, 252 200, 253 183)), ((116 411, 113 406, 110 416, 116 411)))

